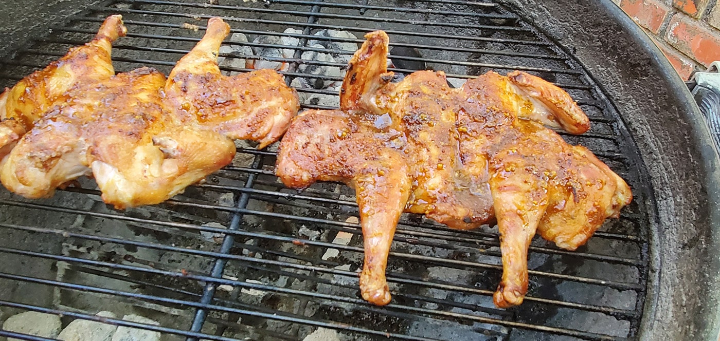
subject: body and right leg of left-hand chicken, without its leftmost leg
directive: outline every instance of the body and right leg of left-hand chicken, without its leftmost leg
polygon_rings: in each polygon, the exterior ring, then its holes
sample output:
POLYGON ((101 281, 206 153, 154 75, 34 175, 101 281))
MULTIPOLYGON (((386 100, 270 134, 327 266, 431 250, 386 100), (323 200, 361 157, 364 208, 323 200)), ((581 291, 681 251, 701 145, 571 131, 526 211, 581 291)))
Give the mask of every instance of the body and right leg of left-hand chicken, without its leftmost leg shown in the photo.
POLYGON ((274 71, 220 76, 217 50, 228 32, 210 19, 168 80, 140 68, 72 88, 0 162, 4 186, 42 198, 92 175, 117 209, 158 204, 228 165, 233 139, 276 141, 297 96, 274 71))

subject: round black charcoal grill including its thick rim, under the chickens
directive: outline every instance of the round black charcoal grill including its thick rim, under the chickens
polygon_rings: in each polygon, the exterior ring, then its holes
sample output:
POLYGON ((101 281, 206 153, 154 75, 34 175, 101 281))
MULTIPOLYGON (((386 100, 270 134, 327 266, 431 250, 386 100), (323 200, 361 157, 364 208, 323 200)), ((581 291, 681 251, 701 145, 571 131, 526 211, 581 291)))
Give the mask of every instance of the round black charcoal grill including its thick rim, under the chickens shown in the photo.
MULTIPOLYGON (((106 1, 4 60, 4 85, 89 40, 109 14, 122 14, 128 27, 114 45, 117 71, 148 65, 167 73, 207 19, 220 16, 249 38, 225 45, 287 47, 252 38, 297 38, 292 58, 221 54, 288 63, 288 83, 307 76, 303 64, 345 66, 303 59, 305 51, 352 53, 308 41, 359 43, 374 29, 390 35, 391 47, 420 55, 392 60, 423 62, 450 78, 534 73, 577 99, 592 129, 564 137, 590 147, 635 199, 575 252, 536 238, 530 291, 508 310, 492 305, 497 228, 454 231, 405 215, 387 271, 393 301, 379 307, 359 297, 352 191, 337 183, 288 190, 273 176, 274 147, 240 144, 233 165, 157 206, 114 211, 92 181, 37 201, 0 191, 0 319, 46 312, 63 325, 89 319, 161 332, 162 340, 717 339, 717 152, 687 88, 611 2, 106 1), (321 29, 359 39, 314 35, 321 29), (102 310, 117 318, 94 315, 102 310), (121 319, 126 314, 158 325, 121 319), (325 329, 336 335, 313 339, 325 329)), ((304 99, 337 96, 298 91, 304 99)), ((303 108, 332 107, 307 100, 303 108)))

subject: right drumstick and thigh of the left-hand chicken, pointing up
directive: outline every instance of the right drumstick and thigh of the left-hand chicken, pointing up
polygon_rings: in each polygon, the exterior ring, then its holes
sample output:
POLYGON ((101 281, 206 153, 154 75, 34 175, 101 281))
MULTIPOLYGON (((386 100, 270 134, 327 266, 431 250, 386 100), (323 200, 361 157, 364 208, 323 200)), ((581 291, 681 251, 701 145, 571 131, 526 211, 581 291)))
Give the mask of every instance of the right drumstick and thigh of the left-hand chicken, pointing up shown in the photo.
POLYGON ((264 148, 282 137, 300 101, 273 70, 222 76, 217 53, 229 32, 222 19, 210 19, 203 39, 168 77, 168 109, 232 139, 260 142, 258 148, 264 148))

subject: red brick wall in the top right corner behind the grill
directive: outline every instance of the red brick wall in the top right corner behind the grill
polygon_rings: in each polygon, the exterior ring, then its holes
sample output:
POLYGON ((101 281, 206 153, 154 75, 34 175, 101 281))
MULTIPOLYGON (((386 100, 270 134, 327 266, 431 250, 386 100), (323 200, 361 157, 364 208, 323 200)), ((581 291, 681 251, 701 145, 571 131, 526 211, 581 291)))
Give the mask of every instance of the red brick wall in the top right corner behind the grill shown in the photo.
POLYGON ((720 60, 720 0, 613 0, 653 38, 683 79, 720 60))

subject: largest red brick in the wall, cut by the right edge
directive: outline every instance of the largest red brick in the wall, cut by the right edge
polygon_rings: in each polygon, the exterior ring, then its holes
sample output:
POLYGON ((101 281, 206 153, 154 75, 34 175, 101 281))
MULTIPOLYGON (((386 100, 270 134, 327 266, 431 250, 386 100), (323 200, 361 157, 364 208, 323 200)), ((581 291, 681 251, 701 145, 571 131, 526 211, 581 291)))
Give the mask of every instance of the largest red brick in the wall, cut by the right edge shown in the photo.
POLYGON ((683 14, 672 16, 665 40, 703 65, 720 60, 720 32, 703 27, 701 22, 683 14))

